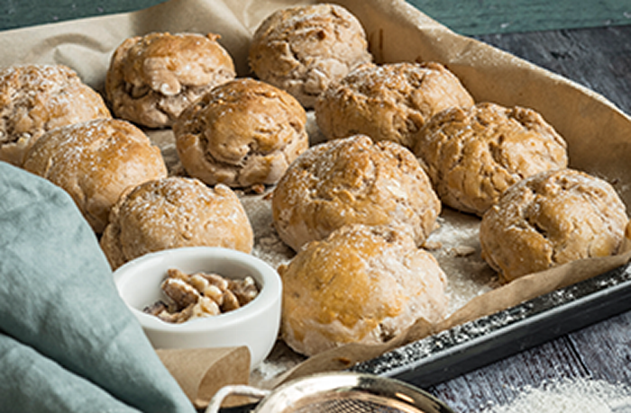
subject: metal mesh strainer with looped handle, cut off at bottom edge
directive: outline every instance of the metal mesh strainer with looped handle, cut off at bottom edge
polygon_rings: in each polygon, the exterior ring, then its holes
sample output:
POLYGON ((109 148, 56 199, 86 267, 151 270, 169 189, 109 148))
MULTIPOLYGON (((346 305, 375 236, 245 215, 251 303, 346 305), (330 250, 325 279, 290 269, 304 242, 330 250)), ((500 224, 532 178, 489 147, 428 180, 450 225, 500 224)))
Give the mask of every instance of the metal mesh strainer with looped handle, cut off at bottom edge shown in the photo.
POLYGON ((231 394, 261 399, 252 413, 453 413, 442 401, 405 382, 363 373, 321 373, 274 391, 227 386, 210 401, 217 413, 231 394))

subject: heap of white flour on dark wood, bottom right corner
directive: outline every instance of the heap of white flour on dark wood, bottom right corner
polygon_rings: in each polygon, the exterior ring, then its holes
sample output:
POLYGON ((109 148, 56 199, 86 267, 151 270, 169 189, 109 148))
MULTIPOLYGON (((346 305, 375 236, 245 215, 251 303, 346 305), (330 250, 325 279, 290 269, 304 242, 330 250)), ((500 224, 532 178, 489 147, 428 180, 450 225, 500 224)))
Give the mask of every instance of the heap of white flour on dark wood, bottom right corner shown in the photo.
POLYGON ((506 405, 480 413, 631 413, 631 386, 588 378, 544 382, 528 387, 506 405))

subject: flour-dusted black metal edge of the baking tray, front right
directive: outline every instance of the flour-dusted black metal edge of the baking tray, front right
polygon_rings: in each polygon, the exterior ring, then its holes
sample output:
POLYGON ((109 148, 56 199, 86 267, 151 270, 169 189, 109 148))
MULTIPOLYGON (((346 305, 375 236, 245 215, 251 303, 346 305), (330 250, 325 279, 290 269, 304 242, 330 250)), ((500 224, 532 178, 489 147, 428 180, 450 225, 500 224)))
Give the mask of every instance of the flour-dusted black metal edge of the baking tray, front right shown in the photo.
POLYGON ((349 370, 420 387, 539 346, 631 309, 631 264, 425 337, 349 370))

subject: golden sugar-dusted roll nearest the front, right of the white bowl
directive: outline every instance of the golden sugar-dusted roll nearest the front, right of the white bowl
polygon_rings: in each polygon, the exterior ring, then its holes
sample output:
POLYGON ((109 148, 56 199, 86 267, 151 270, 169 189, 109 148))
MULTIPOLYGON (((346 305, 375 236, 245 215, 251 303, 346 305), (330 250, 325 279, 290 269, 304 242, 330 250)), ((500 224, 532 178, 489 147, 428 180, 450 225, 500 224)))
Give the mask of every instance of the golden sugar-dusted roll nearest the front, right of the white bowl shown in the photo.
POLYGON ((447 280, 434 256, 389 227, 338 229, 306 245, 279 274, 281 334, 303 355, 380 344, 447 311, 447 280))

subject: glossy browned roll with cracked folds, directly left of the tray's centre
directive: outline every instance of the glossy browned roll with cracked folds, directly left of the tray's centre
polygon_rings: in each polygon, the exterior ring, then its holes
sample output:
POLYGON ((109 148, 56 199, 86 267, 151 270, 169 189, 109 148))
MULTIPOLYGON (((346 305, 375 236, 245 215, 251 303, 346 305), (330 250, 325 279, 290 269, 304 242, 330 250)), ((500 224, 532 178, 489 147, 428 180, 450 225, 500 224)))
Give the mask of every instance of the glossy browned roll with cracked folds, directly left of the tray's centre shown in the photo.
POLYGON ((179 160, 206 184, 276 184, 309 146, 305 109, 290 94, 249 78, 215 87, 173 125, 179 160))

